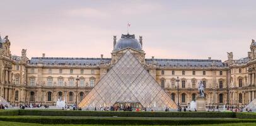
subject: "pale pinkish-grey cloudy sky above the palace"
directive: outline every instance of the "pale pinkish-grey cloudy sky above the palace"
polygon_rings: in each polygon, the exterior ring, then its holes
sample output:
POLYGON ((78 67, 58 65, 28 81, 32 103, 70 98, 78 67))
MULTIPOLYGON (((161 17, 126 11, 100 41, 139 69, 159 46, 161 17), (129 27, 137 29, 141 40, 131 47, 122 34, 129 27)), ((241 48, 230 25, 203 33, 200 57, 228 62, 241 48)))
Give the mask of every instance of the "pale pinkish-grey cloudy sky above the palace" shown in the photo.
POLYGON ((143 36, 146 58, 247 57, 256 39, 256 1, 0 0, 0 34, 11 54, 111 57, 113 35, 143 36))

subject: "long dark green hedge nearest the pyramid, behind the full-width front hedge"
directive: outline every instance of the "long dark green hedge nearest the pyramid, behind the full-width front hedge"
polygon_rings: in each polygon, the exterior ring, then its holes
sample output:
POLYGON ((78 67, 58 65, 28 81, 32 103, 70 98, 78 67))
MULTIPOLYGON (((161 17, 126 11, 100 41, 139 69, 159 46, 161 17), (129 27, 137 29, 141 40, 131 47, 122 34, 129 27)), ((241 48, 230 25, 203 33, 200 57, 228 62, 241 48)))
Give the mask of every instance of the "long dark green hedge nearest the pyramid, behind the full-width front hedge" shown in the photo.
POLYGON ((19 110, 19 115, 74 116, 74 117, 191 117, 191 118, 235 118, 232 112, 100 112, 61 110, 19 110))

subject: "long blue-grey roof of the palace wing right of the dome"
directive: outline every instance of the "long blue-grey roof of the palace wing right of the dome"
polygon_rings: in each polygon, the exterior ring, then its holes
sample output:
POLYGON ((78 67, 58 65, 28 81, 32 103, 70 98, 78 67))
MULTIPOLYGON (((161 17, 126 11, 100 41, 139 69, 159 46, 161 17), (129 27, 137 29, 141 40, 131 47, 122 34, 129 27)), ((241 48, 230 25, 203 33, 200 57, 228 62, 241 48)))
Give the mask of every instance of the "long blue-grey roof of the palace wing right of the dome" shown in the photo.
POLYGON ((156 62, 157 66, 183 66, 183 67, 224 67, 225 64, 221 60, 205 60, 205 59, 146 59, 147 63, 156 62), (214 65, 215 64, 215 65, 214 65))

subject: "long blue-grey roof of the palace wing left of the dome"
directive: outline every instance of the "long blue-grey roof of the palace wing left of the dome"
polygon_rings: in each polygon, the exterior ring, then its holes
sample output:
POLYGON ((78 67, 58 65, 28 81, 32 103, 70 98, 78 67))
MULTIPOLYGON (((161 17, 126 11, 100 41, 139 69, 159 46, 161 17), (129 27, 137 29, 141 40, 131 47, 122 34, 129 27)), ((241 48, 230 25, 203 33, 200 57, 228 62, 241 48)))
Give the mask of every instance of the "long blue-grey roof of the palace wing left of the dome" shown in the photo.
POLYGON ((96 66, 102 63, 109 63, 110 58, 65 58, 65 57, 32 57, 30 64, 43 64, 49 65, 89 65, 96 66), (41 61, 40 61, 41 60, 41 61))

